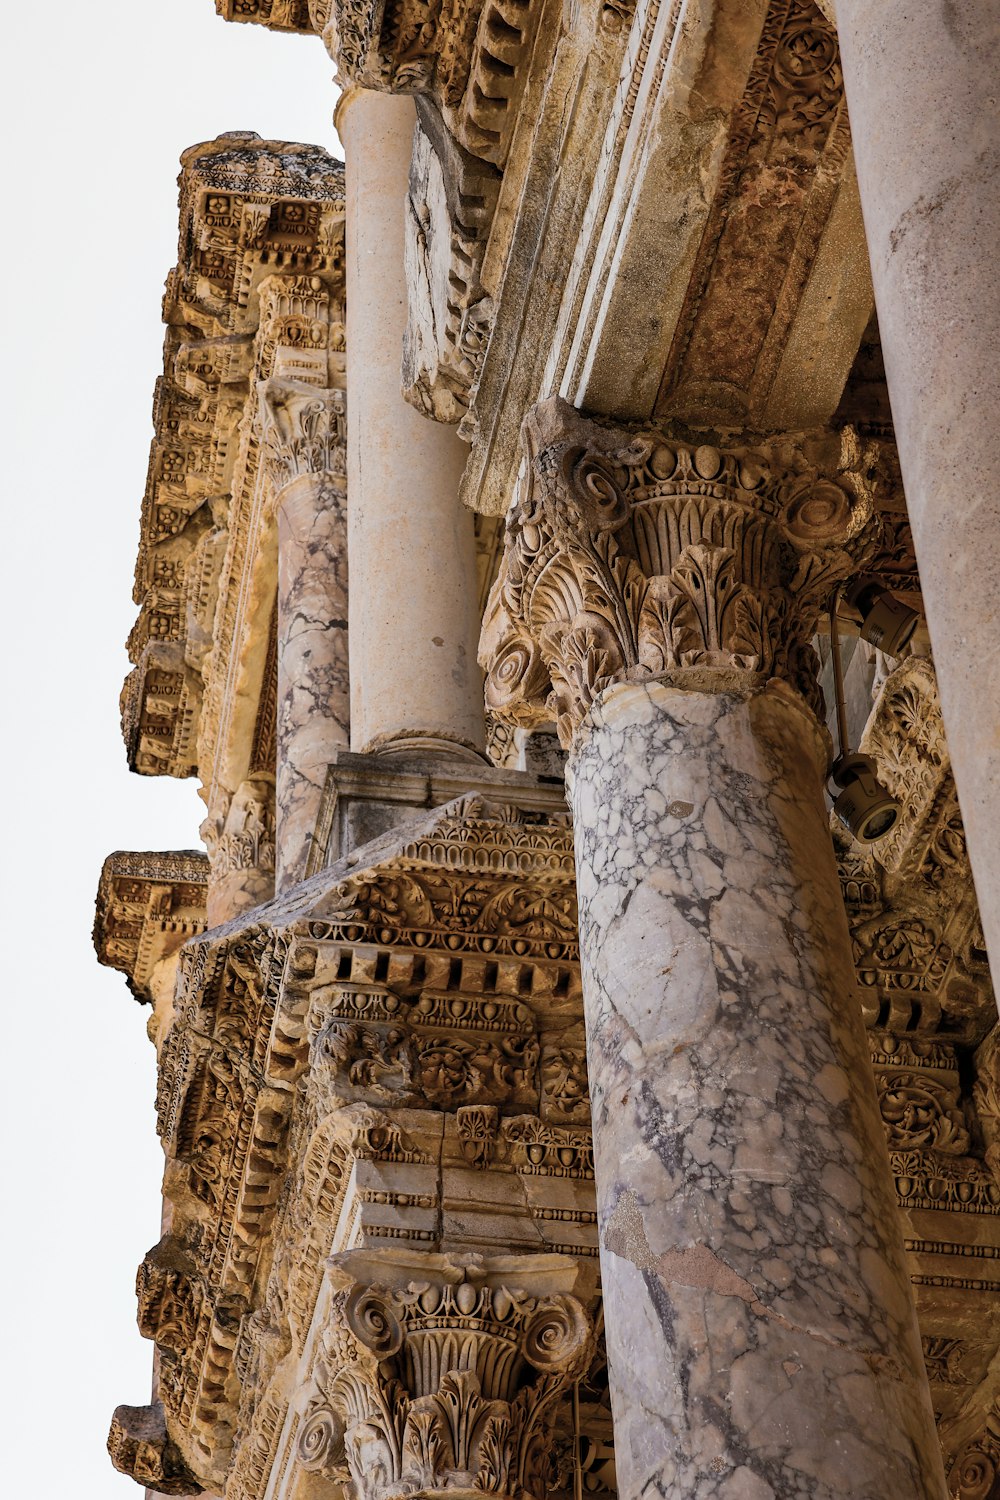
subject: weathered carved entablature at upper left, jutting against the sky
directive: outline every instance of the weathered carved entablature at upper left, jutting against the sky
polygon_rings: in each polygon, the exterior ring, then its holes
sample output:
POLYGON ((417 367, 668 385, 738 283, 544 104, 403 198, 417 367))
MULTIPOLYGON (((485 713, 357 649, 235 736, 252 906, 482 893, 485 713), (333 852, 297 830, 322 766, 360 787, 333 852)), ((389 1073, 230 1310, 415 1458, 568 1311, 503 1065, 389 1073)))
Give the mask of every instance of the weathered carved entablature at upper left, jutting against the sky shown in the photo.
MULTIPOLYGON (((231 639, 216 639, 216 610, 222 602, 225 634, 240 594, 226 567, 246 560, 241 528, 256 490, 256 386, 273 376, 345 384, 340 164, 318 147, 252 132, 184 152, 178 262, 163 321, 135 573, 139 616, 129 638, 135 668, 121 716, 132 770, 186 777, 204 760, 205 682, 213 670, 226 676, 231 639)), ((253 759, 270 610, 261 598, 255 682, 243 687, 253 702, 229 794, 253 759)))

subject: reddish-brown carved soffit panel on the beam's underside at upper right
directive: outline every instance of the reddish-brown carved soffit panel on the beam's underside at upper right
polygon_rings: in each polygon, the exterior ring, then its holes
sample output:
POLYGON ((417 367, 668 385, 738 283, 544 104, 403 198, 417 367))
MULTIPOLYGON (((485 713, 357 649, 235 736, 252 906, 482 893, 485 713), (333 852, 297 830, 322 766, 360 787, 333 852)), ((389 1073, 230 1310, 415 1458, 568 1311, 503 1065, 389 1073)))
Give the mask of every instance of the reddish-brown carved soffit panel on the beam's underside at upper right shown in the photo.
POLYGON ((730 128, 660 414, 760 422, 849 153, 837 30, 813 0, 778 0, 730 128))

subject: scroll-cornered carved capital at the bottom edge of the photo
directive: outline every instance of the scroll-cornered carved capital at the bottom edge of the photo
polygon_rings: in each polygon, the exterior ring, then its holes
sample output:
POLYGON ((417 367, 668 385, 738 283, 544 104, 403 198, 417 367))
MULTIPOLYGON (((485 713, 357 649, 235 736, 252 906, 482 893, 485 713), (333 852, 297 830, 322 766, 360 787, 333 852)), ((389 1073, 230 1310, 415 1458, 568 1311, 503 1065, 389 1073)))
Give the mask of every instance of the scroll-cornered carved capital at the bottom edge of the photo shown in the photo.
POLYGON ((541 1497, 559 1398, 594 1356, 567 1256, 355 1250, 298 1430, 307 1472, 363 1500, 442 1490, 541 1497))

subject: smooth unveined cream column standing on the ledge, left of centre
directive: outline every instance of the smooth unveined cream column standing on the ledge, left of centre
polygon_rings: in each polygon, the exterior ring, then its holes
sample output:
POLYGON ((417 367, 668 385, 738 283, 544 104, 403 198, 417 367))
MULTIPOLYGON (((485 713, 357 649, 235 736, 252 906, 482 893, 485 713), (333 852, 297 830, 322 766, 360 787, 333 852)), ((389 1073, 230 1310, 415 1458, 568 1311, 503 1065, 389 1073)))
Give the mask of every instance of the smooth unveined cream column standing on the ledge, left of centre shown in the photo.
POLYGON ((403 204, 414 102, 349 87, 346 171, 351 742, 361 752, 484 747, 466 448, 400 392, 403 204))

